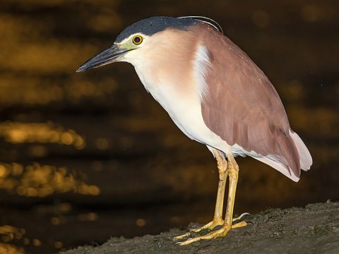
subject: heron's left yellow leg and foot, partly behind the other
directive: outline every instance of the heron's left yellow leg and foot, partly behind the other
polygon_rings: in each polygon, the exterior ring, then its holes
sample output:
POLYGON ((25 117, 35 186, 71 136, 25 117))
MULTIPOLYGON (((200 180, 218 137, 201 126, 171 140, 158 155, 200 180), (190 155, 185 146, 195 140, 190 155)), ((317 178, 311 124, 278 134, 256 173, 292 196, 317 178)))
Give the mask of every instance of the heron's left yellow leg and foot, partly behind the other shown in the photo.
POLYGON ((203 229, 214 229, 215 226, 220 226, 224 224, 224 220, 222 219, 222 207, 224 205, 225 186, 226 186, 227 174, 228 174, 227 160, 218 150, 213 150, 213 154, 215 156, 215 159, 217 159, 218 171, 219 171, 218 193, 217 193, 217 201, 215 202, 215 212, 214 212, 213 221, 208 222, 208 224, 201 226, 198 229, 192 229, 186 234, 176 236, 174 237, 174 239, 181 239, 181 238, 184 238, 185 236, 189 236, 191 232, 198 232, 203 229))

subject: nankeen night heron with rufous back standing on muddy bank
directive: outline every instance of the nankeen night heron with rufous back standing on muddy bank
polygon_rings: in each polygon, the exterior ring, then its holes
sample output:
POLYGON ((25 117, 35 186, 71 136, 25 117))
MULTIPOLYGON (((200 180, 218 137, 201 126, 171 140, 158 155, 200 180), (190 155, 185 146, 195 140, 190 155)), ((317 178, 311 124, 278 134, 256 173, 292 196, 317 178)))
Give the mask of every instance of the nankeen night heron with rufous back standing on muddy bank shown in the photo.
MULTIPOLYGON (((203 17, 153 17, 125 28, 114 44, 78 71, 116 61, 131 63, 145 89, 192 140, 205 144, 218 162, 219 186, 212 222, 193 231, 210 233, 180 244, 225 236, 234 223, 239 167, 249 155, 298 181, 312 158, 292 131, 283 103, 266 75, 218 23, 203 17), (225 219, 225 185, 229 191, 225 219), (215 229, 216 226, 221 226, 215 229), (213 231, 213 229, 215 229, 213 231)), ((177 239, 190 236, 191 232, 177 239)))

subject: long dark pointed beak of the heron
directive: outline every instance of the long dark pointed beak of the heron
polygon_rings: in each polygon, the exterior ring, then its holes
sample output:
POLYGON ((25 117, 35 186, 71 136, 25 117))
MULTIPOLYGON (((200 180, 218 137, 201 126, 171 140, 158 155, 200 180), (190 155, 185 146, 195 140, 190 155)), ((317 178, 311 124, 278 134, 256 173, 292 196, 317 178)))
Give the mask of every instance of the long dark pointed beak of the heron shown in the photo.
POLYGON ((93 56, 90 60, 83 63, 83 65, 80 66, 76 72, 85 71, 90 68, 97 68, 108 63, 113 63, 114 61, 119 61, 121 56, 128 51, 128 49, 124 49, 123 47, 119 47, 117 44, 113 44, 112 47, 109 47, 109 49, 106 49, 105 51, 93 56))

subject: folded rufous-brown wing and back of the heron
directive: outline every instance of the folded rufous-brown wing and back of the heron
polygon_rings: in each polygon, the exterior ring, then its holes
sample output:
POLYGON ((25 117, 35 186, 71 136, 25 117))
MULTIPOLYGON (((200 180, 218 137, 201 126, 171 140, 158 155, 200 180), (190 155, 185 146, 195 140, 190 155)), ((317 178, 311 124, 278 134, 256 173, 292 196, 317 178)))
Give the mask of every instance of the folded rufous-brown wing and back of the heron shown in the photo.
POLYGON ((202 41, 213 42, 207 47, 209 97, 201 102, 206 126, 227 144, 242 147, 246 155, 261 158, 279 171, 284 168, 283 174, 294 181, 299 179, 299 151, 270 80, 224 35, 211 31, 203 34, 202 41))

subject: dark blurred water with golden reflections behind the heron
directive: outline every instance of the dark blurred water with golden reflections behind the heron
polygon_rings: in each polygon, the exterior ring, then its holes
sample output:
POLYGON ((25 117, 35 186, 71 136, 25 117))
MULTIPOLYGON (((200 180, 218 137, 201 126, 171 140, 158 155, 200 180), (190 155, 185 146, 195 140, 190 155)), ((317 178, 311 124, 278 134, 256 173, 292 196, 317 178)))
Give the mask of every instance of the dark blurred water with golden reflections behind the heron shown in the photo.
POLYGON ((239 158, 235 213, 339 197, 338 1, 2 0, 0 253, 56 253, 213 216, 215 159, 133 66, 78 66, 150 16, 201 15, 268 75, 314 158, 299 183, 239 158))

